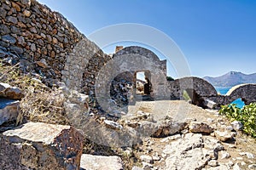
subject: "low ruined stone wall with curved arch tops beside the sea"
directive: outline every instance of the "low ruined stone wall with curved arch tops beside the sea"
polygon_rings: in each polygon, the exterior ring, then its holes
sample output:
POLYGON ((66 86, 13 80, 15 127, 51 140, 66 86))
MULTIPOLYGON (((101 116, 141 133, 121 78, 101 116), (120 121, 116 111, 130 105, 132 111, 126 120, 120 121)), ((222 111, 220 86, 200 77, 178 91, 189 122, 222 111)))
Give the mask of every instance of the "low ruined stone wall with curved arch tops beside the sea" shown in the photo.
POLYGON ((230 89, 226 95, 218 94, 209 82, 199 77, 184 77, 168 82, 171 90, 171 99, 183 99, 183 91, 189 94, 192 104, 207 107, 207 100, 220 105, 228 105, 234 100, 241 98, 246 105, 256 102, 256 84, 241 84, 230 89))

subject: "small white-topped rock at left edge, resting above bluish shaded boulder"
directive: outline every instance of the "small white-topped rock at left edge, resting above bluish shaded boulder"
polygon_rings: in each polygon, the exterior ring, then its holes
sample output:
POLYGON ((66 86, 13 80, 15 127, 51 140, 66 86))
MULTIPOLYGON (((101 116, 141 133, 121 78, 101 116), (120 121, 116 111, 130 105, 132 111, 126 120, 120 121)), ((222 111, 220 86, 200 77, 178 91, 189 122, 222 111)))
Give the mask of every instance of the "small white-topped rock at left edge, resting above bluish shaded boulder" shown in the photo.
POLYGON ((7 83, 0 82, 0 97, 7 99, 22 99, 24 94, 20 88, 11 87, 7 83))

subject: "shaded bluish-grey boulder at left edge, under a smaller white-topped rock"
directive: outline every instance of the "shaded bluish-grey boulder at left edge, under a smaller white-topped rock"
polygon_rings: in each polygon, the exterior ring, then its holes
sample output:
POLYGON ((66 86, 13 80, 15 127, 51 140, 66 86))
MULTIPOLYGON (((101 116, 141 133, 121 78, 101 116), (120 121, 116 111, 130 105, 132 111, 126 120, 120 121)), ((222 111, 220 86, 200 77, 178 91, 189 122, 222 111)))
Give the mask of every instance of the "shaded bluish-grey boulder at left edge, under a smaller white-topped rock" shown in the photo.
POLYGON ((18 116, 19 101, 0 99, 0 125, 4 122, 15 121, 18 116))

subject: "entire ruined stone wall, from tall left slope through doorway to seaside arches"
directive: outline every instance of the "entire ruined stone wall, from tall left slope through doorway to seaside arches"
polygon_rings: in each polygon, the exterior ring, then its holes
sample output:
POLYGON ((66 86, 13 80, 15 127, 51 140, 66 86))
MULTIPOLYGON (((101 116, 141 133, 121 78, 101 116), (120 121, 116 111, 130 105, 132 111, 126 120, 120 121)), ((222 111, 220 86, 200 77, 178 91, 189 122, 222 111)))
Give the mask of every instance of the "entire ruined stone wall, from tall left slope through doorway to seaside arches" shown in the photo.
MULTIPOLYGON (((167 82, 166 60, 146 48, 104 54, 61 14, 35 0, 0 1, 0 58, 9 65, 20 65, 22 71, 48 86, 65 82, 67 88, 89 94, 93 105, 97 99, 101 103, 111 99, 111 83, 125 71, 149 71, 154 99, 183 99, 186 90, 195 105, 204 105, 207 99, 218 106, 237 98, 246 104, 256 100, 253 84, 236 87, 224 96, 197 77, 167 82)), ((130 104, 133 101, 136 99, 130 104)))

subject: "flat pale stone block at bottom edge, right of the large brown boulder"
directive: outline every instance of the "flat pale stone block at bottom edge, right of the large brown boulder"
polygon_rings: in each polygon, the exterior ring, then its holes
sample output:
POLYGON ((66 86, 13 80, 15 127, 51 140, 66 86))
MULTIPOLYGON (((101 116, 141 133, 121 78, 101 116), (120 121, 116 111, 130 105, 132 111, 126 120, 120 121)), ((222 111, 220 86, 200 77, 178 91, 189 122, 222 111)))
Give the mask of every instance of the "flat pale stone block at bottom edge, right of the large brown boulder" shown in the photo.
POLYGON ((122 170, 123 162, 119 156, 92 156, 83 154, 80 167, 86 170, 122 170))

